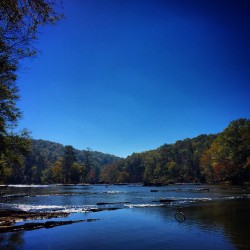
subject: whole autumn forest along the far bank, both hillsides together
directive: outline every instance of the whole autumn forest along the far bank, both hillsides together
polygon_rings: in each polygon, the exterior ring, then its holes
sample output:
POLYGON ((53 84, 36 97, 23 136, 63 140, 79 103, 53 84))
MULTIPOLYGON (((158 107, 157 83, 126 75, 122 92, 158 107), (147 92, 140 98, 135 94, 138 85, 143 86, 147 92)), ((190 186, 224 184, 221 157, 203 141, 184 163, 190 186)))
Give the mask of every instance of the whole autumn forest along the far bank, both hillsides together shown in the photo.
MULTIPOLYGON (((223 132, 164 144, 119 158, 91 149, 28 140, 0 169, 3 184, 250 182, 250 120, 232 121, 223 132)), ((14 145, 13 145, 14 146, 14 145)))

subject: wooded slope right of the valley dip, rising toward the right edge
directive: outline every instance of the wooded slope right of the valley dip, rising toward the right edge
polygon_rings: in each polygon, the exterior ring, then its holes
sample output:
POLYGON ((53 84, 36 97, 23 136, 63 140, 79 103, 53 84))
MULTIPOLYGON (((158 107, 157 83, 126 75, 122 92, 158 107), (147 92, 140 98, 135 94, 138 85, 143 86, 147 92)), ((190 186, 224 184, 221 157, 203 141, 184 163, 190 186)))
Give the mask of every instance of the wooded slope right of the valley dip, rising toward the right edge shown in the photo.
POLYGON ((250 182, 250 120, 232 121, 219 134, 199 135, 134 153, 105 166, 101 181, 145 185, 250 182))

